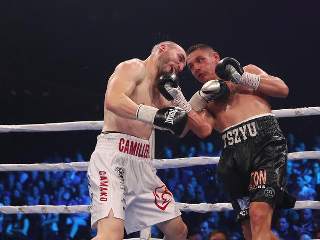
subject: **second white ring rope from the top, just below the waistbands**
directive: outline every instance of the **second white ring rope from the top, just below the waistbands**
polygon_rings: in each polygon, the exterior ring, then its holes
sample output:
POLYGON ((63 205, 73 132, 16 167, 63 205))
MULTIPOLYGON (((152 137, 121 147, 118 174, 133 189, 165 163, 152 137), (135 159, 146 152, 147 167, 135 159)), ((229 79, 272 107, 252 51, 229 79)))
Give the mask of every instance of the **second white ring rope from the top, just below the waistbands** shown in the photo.
MULTIPOLYGON (((288 153, 288 160, 320 159, 320 151, 298 151, 288 153)), ((154 159, 156 169, 182 168, 195 165, 217 164, 219 157, 185 157, 172 159, 154 159)), ((87 171, 89 162, 70 163, 33 163, 33 164, 0 164, 0 172, 4 171, 87 171)))

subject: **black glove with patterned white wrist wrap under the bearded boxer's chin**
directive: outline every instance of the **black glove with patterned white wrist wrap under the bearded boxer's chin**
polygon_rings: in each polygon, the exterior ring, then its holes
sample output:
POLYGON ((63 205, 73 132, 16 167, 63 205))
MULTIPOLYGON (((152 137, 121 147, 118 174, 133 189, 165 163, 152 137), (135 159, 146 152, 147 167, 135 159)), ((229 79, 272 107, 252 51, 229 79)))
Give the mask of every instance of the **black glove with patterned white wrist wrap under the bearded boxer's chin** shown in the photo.
POLYGON ((179 87, 179 78, 175 73, 161 75, 157 87, 160 93, 171 101, 172 106, 182 108, 187 113, 191 111, 191 106, 179 87))

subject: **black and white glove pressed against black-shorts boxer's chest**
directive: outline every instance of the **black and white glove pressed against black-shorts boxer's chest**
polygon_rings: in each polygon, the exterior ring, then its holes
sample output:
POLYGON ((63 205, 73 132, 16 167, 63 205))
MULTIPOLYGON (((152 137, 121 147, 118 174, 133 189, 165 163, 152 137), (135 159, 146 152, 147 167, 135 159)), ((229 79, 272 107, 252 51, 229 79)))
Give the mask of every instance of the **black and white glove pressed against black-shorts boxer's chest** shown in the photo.
POLYGON ((222 80, 210 80, 189 101, 191 107, 201 112, 209 102, 223 102, 230 95, 229 87, 222 80))

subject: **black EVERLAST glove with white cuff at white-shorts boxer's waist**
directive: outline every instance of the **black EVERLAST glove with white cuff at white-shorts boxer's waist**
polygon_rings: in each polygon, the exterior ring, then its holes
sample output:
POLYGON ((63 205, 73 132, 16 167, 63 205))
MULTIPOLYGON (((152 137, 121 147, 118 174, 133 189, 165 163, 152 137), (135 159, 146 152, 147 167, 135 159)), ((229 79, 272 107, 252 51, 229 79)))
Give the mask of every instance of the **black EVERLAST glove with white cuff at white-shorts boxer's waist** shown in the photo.
POLYGON ((140 104, 136 114, 136 120, 152 125, 160 130, 170 131, 174 137, 179 137, 188 122, 186 111, 178 107, 166 107, 158 109, 140 104))

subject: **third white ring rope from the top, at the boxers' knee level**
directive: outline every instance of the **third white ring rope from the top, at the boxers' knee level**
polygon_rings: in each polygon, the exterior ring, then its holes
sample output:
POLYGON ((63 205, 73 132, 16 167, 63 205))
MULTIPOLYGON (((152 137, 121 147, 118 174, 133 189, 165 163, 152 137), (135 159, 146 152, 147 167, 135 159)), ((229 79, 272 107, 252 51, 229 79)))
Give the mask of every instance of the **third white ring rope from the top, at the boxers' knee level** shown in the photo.
MULTIPOLYGON (((176 203, 181 211, 210 212, 233 210, 231 203, 176 203)), ((35 205, 35 206, 1 206, 0 213, 90 213, 90 205, 73 205, 73 206, 53 206, 53 205, 35 205)), ((317 209, 320 210, 318 201, 296 201, 293 209, 317 209)))

